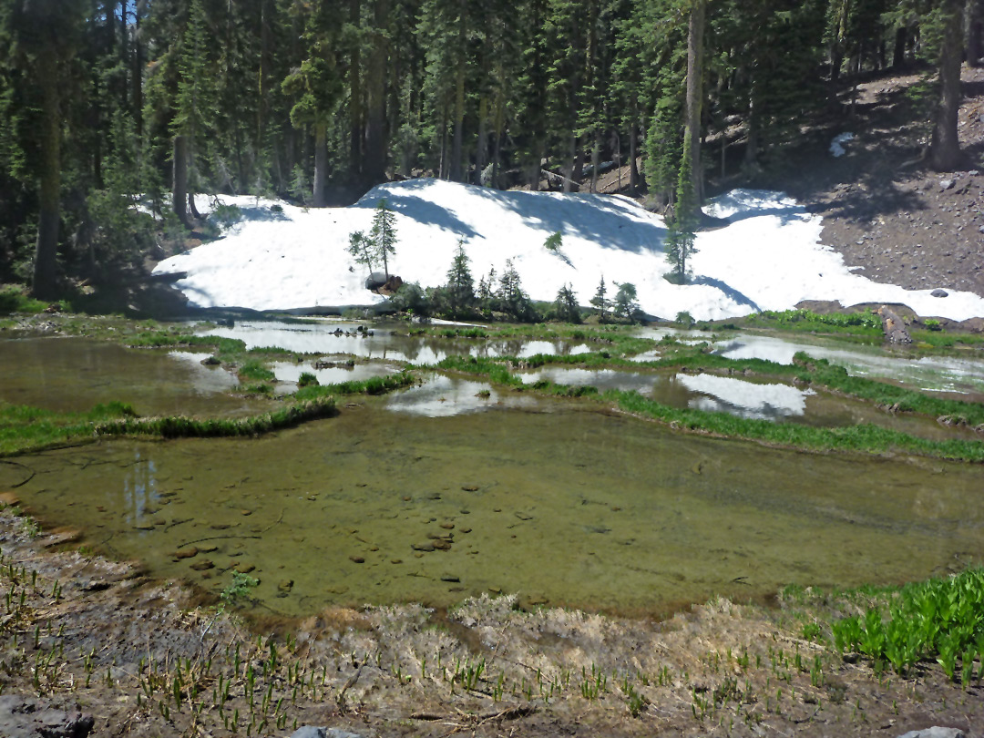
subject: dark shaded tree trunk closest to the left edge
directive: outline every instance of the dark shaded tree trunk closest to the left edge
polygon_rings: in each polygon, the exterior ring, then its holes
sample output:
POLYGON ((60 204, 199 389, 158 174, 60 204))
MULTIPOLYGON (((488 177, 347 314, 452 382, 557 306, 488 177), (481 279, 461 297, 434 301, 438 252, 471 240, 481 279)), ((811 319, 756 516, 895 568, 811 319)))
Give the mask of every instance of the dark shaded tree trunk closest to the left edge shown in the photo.
POLYGON ((35 66, 41 88, 41 177, 37 213, 37 241, 34 247, 35 297, 50 300, 58 291, 58 225, 61 219, 61 114, 58 91, 58 58, 54 49, 45 49, 35 66))

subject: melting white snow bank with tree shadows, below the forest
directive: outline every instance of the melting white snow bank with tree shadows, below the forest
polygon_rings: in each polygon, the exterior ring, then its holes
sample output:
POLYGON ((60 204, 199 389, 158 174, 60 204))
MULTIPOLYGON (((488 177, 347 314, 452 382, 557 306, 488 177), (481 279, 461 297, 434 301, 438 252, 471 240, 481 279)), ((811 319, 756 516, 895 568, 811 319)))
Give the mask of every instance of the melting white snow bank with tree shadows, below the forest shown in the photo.
MULTIPOLYGON (((392 274, 421 286, 447 280, 459 239, 472 276, 507 259, 535 300, 553 300, 570 283, 586 305, 604 276, 633 282, 646 313, 698 320, 785 310, 801 300, 841 304, 896 302, 920 315, 965 320, 984 316, 984 299, 969 292, 946 298, 854 275, 820 243, 821 218, 781 193, 734 190, 710 201, 707 213, 727 225, 698 234, 689 284, 674 285, 659 215, 634 201, 604 195, 502 192, 436 179, 380 185, 348 208, 306 210, 252 197, 221 196, 243 218, 224 237, 157 265, 154 274, 184 272, 176 284, 192 305, 254 310, 338 307, 383 302, 363 287, 366 271, 348 255, 348 235, 368 231, 380 200, 397 213, 399 243, 392 274), (556 232, 560 253, 543 243, 556 232)), ((202 198, 201 210, 210 198, 202 198)), ((611 289, 614 294, 615 288, 611 289)))

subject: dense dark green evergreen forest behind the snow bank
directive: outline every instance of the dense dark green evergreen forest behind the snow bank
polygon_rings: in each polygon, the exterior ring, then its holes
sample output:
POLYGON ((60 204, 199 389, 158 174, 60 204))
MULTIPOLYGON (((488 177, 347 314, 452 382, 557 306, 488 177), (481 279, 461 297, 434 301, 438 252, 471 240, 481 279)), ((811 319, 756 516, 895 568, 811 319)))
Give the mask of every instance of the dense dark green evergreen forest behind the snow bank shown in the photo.
POLYGON ((196 193, 353 202, 414 176, 622 191, 700 226, 708 172, 768 172, 852 80, 923 75, 959 163, 984 0, 0 0, 0 282, 118 279, 196 193))

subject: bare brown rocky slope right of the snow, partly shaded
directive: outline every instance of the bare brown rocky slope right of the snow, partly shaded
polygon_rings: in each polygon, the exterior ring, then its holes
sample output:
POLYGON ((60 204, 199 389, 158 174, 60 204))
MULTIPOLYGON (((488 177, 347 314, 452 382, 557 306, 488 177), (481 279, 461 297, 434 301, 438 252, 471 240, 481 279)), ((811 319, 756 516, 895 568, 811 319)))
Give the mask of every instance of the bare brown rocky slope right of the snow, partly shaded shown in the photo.
MULTIPOLYGON (((963 68, 958 131, 965 164, 954 172, 933 171, 922 160, 927 129, 912 123, 909 96, 920 79, 882 74, 845 90, 842 113, 805 129, 798 147, 783 153, 784 165, 751 179, 711 177, 710 194, 734 187, 786 192, 823 216, 823 242, 859 274, 906 289, 984 296, 984 69, 963 68), (854 139, 833 156, 830 142, 842 133, 854 139)), ((740 146, 733 149, 741 154, 740 146)), ((719 155, 716 144, 710 150, 719 155)), ((737 172, 739 164, 729 166, 737 172)), ((617 170, 600 177, 598 191, 614 192, 619 181, 628 182, 627 166, 621 180, 617 170)))

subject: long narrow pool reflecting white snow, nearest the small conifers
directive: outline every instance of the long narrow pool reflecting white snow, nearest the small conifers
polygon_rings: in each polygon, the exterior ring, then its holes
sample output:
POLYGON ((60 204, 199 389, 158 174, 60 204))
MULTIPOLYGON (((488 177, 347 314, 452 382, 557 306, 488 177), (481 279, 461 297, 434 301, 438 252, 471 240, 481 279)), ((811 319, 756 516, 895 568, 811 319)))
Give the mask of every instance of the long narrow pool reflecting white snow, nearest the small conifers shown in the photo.
POLYGON ((407 336, 405 325, 370 326, 359 332, 358 323, 317 321, 280 323, 243 321, 232 328, 215 328, 204 336, 238 338, 247 348, 278 346, 301 353, 349 354, 370 359, 436 364, 448 356, 532 356, 537 353, 569 355, 591 350, 586 344, 566 340, 489 340, 407 336))

